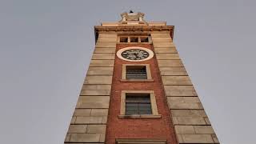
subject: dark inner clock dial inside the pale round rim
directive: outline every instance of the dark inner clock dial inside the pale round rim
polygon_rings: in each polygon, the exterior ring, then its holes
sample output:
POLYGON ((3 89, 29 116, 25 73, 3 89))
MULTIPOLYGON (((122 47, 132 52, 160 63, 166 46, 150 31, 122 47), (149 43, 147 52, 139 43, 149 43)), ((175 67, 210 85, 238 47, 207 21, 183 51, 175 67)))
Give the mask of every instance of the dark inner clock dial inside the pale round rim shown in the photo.
POLYGON ((122 52, 122 58, 130 60, 142 60, 148 58, 150 54, 146 50, 131 49, 122 52))

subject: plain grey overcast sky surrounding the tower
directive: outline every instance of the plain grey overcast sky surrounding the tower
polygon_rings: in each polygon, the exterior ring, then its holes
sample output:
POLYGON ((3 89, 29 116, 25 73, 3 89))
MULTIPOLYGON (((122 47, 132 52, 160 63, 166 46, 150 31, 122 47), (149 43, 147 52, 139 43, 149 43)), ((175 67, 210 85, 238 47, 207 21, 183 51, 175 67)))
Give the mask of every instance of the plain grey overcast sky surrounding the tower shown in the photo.
POLYGON ((175 26, 174 43, 219 141, 255 142, 255 1, 2 0, 0 143, 63 143, 94 26, 129 10, 175 26))

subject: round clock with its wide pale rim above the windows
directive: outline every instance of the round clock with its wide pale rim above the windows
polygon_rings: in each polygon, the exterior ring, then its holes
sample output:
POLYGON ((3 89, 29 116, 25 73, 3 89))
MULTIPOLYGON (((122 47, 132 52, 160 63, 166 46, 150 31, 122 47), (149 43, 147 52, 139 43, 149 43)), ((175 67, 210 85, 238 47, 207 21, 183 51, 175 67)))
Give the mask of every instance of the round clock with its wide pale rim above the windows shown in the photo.
POLYGON ((144 47, 130 46, 118 50, 118 58, 121 58, 130 62, 142 62, 153 58, 153 51, 146 49, 144 47))

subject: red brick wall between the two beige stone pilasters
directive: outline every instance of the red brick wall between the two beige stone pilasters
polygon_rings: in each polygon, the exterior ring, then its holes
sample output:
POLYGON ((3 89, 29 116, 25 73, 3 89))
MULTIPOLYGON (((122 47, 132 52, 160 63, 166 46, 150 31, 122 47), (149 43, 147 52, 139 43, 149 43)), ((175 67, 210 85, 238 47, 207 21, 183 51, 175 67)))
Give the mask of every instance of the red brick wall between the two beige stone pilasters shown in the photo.
MULTIPOLYGON (((148 44, 118 44, 117 51, 127 46, 142 46, 154 51, 153 46, 148 44)), ((114 144, 115 138, 158 138, 166 139, 168 144, 177 143, 155 56, 144 62, 128 62, 117 56, 115 58, 114 76, 110 95, 110 109, 106 128, 106 144, 114 144), (151 75, 154 82, 121 82, 122 64, 131 63, 150 64, 151 75), (162 118, 118 118, 118 115, 120 114, 121 90, 154 90, 158 106, 158 114, 162 114, 162 118)))

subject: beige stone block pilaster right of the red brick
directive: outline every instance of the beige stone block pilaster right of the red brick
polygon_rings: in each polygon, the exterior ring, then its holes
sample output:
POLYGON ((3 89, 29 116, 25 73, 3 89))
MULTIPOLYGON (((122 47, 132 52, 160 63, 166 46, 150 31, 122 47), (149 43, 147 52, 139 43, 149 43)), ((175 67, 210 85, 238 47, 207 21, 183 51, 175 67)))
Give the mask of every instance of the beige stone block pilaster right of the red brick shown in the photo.
POLYGON ((170 34, 151 34, 178 143, 219 143, 170 34))

